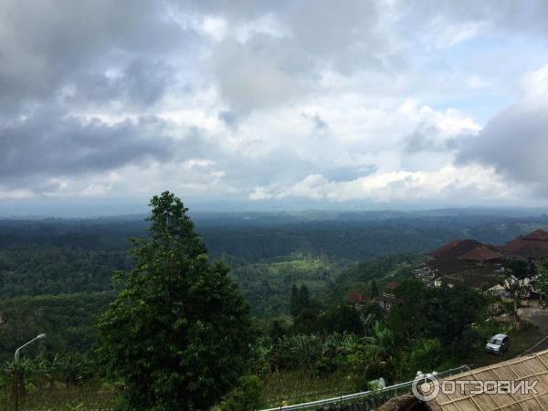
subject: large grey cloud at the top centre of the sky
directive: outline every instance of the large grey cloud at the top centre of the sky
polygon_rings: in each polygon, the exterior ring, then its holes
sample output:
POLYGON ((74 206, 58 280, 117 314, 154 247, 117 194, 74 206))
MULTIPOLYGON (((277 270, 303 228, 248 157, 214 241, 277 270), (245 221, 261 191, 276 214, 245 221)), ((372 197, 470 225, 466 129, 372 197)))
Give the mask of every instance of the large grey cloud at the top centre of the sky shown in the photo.
POLYGON ((279 2, 243 24, 232 18, 225 24, 236 33, 214 47, 212 74, 239 112, 309 94, 326 69, 348 74, 387 68, 393 58, 375 2, 279 2))

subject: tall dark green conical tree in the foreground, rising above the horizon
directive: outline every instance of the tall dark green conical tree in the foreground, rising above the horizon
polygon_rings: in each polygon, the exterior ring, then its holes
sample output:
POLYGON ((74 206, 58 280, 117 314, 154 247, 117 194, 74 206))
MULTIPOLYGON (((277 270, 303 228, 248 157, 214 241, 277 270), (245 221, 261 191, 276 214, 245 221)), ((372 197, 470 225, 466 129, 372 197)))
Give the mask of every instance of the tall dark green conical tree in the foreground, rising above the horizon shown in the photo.
POLYGON ((101 362, 131 409, 206 409, 237 384, 248 360, 248 305, 208 260, 187 208, 153 196, 148 237, 133 240, 135 267, 98 321, 101 362))

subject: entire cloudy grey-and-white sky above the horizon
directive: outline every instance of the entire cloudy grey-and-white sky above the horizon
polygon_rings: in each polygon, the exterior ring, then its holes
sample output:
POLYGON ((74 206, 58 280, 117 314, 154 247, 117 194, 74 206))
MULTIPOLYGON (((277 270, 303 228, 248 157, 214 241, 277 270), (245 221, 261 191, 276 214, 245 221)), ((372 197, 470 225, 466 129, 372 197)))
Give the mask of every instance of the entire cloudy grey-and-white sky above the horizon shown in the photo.
POLYGON ((0 0, 0 203, 548 204, 548 2, 0 0))

